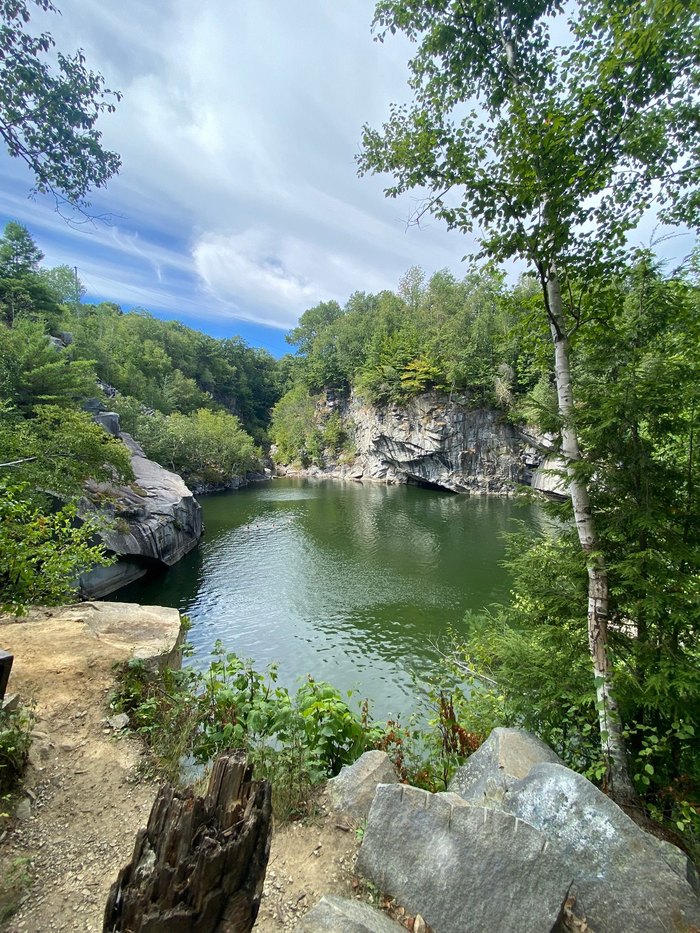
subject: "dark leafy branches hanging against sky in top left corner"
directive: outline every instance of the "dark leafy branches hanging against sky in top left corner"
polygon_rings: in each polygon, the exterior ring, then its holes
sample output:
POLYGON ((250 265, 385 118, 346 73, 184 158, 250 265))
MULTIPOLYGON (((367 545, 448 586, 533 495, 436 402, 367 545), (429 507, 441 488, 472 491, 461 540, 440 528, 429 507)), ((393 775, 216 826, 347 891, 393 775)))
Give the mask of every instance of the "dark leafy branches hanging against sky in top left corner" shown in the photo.
POLYGON ((102 148, 95 129, 119 94, 86 67, 82 51, 54 55, 51 35, 28 28, 33 7, 58 12, 50 0, 0 4, 0 135, 29 166, 35 190, 85 205, 88 191, 119 169, 119 156, 102 148))

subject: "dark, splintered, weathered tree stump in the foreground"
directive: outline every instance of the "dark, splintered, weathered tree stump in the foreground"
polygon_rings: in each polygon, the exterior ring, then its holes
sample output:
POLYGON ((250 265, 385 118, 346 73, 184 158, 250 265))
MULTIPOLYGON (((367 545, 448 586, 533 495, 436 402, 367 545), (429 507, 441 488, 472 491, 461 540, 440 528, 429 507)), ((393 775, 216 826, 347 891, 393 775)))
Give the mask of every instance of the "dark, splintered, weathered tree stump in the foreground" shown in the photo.
POLYGON ((103 933, 248 933, 270 854, 271 789, 245 753, 215 762, 204 797, 158 791, 131 861, 119 872, 103 933))

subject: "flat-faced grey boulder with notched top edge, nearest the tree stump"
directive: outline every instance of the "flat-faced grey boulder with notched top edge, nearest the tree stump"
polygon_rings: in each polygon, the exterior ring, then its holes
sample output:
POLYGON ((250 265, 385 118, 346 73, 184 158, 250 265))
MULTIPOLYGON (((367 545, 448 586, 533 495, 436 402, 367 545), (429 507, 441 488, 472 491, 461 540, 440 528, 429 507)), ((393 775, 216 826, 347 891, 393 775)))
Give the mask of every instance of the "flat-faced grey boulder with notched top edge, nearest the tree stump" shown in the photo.
POLYGON ((357 867, 436 933, 551 933, 573 880, 529 823, 402 784, 377 788, 357 867))

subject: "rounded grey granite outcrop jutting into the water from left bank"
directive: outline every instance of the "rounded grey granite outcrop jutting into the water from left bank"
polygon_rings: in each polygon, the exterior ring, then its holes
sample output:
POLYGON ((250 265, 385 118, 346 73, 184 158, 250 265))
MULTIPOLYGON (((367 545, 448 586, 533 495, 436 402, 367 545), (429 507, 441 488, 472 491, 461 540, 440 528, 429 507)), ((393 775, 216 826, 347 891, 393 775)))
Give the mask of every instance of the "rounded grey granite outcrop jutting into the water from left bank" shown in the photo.
POLYGON ((119 558, 111 567, 96 567, 81 576, 81 592, 90 598, 113 593, 149 568, 172 566, 202 535, 201 508, 182 477, 149 460, 131 435, 119 432, 113 413, 98 414, 96 420, 129 448, 134 482, 88 483, 90 501, 84 501, 84 512, 99 510, 113 520, 113 528, 101 537, 119 558), (99 506, 95 500, 102 500, 99 506))

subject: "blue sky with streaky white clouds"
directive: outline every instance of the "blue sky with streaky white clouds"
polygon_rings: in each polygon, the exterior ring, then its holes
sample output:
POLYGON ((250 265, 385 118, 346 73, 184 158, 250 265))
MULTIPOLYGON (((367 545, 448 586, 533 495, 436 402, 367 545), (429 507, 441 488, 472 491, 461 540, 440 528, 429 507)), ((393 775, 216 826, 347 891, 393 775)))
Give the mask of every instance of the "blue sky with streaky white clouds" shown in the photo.
MULTIPOLYGON (((409 99, 402 38, 373 41, 371 0, 58 0, 57 47, 122 92, 100 121, 122 168, 93 192, 108 222, 70 226, 0 155, 0 220, 45 265, 116 301, 277 354, 319 301, 395 289, 406 270, 462 276, 474 241, 407 225, 415 198, 359 178, 363 123, 409 99)), ((35 17, 37 23, 42 23, 35 17)))

